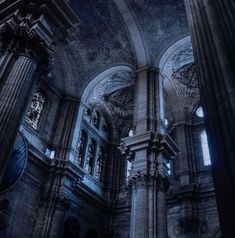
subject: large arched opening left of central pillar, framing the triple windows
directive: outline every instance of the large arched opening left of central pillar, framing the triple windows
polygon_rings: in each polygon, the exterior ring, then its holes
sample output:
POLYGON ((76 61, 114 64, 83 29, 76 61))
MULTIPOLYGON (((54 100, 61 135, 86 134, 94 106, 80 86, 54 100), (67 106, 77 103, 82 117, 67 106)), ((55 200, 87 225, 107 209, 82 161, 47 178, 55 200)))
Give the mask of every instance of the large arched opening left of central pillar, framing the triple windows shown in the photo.
POLYGON ((118 183, 125 184, 126 166, 118 145, 133 128, 133 84, 132 69, 116 66, 95 77, 83 92, 75 129, 79 135, 73 136, 75 164, 84 169, 87 181, 99 182, 98 186, 110 183, 114 174, 123 180, 118 183), (124 176, 115 172, 115 166, 124 176))

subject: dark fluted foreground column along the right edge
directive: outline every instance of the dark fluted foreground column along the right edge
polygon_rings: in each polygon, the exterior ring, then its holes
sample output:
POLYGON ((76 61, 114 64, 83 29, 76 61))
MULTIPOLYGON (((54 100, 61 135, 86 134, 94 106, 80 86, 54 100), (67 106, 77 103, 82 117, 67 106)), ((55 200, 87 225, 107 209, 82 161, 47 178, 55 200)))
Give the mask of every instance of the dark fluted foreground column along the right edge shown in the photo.
POLYGON ((223 237, 235 236, 235 4, 185 0, 223 237))

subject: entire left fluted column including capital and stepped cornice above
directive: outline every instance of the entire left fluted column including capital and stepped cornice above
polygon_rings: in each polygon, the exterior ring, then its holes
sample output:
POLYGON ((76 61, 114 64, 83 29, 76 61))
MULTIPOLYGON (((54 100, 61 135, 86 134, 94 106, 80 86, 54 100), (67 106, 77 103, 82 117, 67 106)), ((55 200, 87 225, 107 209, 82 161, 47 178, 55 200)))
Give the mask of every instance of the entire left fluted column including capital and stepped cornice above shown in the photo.
POLYGON ((54 33, 65 36, 79 19, 65 1, 4 0, 0 9, 1 182, 35 81, 34 71, 40 77, 47 75, 54 33))

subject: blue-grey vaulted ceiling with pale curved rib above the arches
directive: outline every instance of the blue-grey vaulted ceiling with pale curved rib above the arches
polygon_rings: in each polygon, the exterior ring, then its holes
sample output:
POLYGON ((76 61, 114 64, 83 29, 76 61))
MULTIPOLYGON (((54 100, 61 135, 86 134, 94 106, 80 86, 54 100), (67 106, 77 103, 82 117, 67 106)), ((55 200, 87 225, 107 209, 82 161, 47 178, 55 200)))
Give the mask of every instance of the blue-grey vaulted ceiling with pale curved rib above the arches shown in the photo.
POLYGON ((67 0, 80 19, 57 42, 50 83, 80 97, 99 73, 114 65, 157 66, 161 55, 188 35, 183 0, 67 0))

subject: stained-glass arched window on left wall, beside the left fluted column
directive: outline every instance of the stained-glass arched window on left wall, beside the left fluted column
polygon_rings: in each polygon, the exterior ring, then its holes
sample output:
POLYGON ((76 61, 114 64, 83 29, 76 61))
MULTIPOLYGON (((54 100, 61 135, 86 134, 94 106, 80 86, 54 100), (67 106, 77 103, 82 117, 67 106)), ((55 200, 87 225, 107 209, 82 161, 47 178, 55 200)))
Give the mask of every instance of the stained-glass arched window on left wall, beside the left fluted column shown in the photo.
POLYGON ((38 123, 42 114, 44 103, 45 97, 43 94, 41 92, 34 93, 25 121, 35 130, 38 129, 38 123))

